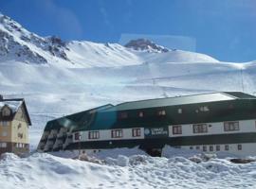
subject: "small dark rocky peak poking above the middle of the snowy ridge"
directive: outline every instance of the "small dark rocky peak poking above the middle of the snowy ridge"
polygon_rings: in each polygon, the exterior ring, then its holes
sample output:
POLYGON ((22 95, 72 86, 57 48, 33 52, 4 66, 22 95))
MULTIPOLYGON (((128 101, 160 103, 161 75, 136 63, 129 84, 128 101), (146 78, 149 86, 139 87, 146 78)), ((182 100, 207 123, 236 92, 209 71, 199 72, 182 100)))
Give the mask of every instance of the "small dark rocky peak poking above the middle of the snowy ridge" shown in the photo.
POLYGON ((135 50, 156 52, 156 53, 166 53, 170 51, 168 48, 157 45, 146 39, 131 40, 129 43, 126 43, 124 46, 127 48, 135 49, 135 50))

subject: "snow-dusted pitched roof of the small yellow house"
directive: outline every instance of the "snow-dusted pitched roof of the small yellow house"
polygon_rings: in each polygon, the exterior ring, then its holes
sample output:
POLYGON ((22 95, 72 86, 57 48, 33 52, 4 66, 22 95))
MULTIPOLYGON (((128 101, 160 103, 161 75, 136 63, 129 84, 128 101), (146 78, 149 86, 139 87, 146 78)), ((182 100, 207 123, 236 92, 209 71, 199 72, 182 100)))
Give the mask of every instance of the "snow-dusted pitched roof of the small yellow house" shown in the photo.
MULTIPOLYGON (((7 117, 6 119, 7 120, 13 120, 16 112, 18 111, 18 109, 23 106, 24 107, 24 110, 25 110, 25 113, 27 115, 27 122, 28 122, 28 125, 31 126, 31 120, 30 120, 30 117, 29 117, 29 114, 27 112, 27 106, 26 106, 26 103, 25 103, 25 100, 24 98, 11 98, 11 99, 1 99, 0 100, 0 110, 4 107, 4 106, 8 106, 11 110, 11 115, 9 117, 7 117)), ((0 114, 0 117, 2 115, 0 114)), ((1 117, 2 118, 2 117, 1 117)))

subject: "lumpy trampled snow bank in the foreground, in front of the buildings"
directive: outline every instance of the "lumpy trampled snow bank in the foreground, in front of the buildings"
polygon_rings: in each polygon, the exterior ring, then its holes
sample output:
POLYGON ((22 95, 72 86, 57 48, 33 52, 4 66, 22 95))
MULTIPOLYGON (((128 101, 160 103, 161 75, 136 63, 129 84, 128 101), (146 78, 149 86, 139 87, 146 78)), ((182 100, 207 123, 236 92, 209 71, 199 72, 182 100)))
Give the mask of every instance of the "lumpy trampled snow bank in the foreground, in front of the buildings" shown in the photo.
POLYGON ((98 154, 104 157, 102 164, 45 153, 28 158, 5 154, 0 161, 1 189, 253 189, 256 184, 256 163, 236 164, 216 158, 194 163, 178 153, 170 158, 153 158, 138 149, 112 150, 111 154, 108 158, 98 154))

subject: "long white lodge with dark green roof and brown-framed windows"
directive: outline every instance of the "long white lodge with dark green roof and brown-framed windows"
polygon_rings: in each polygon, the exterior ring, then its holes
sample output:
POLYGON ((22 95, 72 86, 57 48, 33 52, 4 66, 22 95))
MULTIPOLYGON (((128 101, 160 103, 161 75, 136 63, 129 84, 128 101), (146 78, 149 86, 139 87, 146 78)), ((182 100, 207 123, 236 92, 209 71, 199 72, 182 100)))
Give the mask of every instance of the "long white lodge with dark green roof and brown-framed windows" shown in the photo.
POLYGON ((225 92, 111 104, 47 122, 40 151, 165 145, 256 155, 256 96, 225 92))

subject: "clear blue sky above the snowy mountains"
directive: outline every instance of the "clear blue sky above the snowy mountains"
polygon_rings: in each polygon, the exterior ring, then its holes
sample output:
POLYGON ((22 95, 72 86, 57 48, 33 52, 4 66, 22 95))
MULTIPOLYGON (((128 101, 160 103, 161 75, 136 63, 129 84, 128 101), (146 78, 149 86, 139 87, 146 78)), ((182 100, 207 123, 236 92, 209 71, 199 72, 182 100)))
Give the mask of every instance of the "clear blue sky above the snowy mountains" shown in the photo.
POLYGON ((218 60, 256 60, 254 0, 0 0, 0 11, 32 32, 66 41, 183 36, 218 60))

